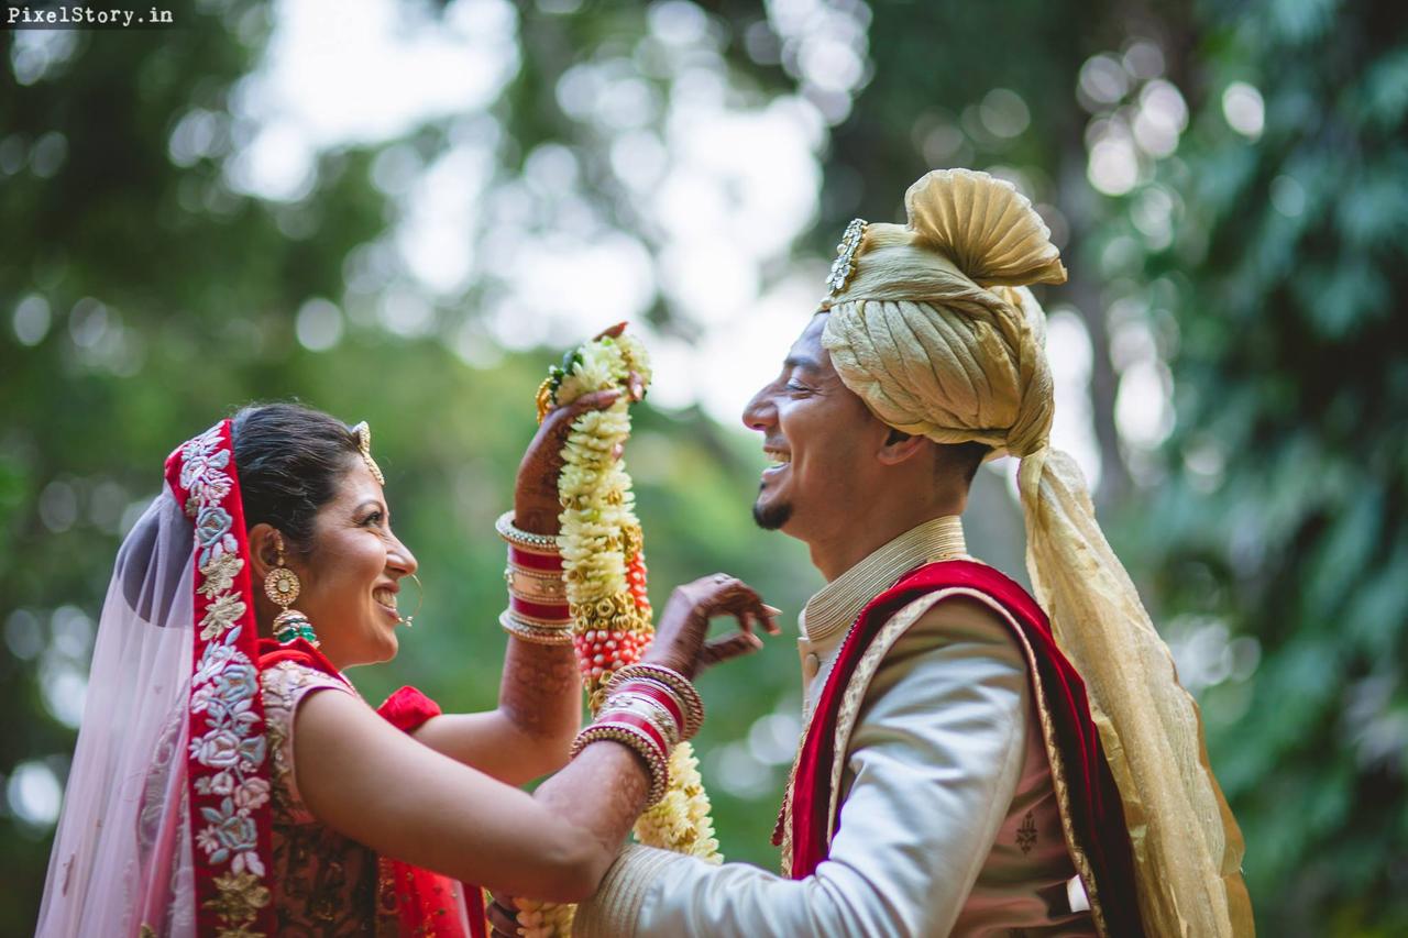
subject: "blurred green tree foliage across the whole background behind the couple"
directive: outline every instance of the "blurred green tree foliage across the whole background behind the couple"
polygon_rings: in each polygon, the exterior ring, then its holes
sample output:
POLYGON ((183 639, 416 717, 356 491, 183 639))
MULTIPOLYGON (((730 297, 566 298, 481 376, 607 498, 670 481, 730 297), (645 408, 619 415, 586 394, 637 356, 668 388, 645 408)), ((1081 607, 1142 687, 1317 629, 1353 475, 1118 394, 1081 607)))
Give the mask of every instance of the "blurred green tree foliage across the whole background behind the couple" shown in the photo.
MULTIPOLYGON (((555 89, 574 63, 629 55, 659 6, 520 4, 521 63, 491 108, 500 173, 563 144, 586 194, 645 244, 610 137, 563 113, 555 89)), ((1408 931, 1401 17, 1333 0, 819 7, 866 23, 869 59, 831 130, 803 249, 829 254, 853 215, 900 217, 900 194, 932 166, 987 168, 1032 196, 1071 270, 1043 300, 1073 306, 1093 351, 1102 517, 1180 661, 1195 665, 1184 679, 1246 834, 1263 934, 1408 931), (1094 59, 1115 69, 1114 86, 1090 72, 1094 59), (1166 124, 1140 130, 1155 99, 1177 123, 1171 148, 1166 124), (1119 134, 1139 146, 1124 166, 1133 175, 1111 182, 1094 151, 1119 134), (1171 373, 1167 439, 1119 425, 1133 327, 1171 373)), ((797 90, 796 49, 765 10, 708 10, 711 68, 735 94, 797 90)), ((494 700, 503 548, 491 523, 555 349, 486 349, 470 366, 445 337, 473 308, 436 307, 442 328, 406 338, 353 303, 332 351, 300 345, 296 313, 341 301, 351 258, 394 218, 369 179, 377 146, 321 155, 297 203, 230 189, 222 161, 248 141, 228 124, 204 156, 169 152, 191 108, 231 110, 269 23, 263 4, 206 3, 189 28, 73 32, 62 61, 24 82, 32 61, 0 34, 0 789, 35 762, 62 779, 70 676, 86 668, 124 517, 156 493, 172 446, 249 400, 297 396, 376 430, 427 600, 400 658, 355 675, 366 696, 414 682, 453 708, 494 700)), ((422 158, 446 145, 434 124, 401 142, 422 158)), ((474 299, 472 287, 465 306, 474 299)), ((690 334, 663 301, 650 318, 690 334)), ((819 584, 800 545, 753 528, 759 459, 739 430, 646 404, 628 463, 656 604, 714 569, 790 614, 819 584)), ((1012 570, 1019 521, 995 479, 980 476, 969 534, 1012 570)), ((790 642, 703 684, 700 751, 725 853, 772 868, 783 766, 731 789, 719 773, 732 763, 710 753, 738 749, 760 715, 796 713, 790 642)), ((34 921, 48 837, 0 799, 6 934, 34 921)))

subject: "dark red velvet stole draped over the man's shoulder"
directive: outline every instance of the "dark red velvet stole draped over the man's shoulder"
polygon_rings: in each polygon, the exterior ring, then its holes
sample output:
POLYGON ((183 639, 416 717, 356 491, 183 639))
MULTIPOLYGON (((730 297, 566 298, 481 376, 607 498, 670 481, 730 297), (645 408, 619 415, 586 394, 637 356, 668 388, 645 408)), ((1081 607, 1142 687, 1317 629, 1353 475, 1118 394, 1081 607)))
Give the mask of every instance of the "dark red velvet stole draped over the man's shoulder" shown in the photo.
POLYGON ((1049 715, 1064 765, 1069 801, 1062 810, 1069 808, 1074 839, 1088 859, 1095 880, 1086 884, 1087 893, 1093 904, 1098 901, 1108 934, 1119 938, 1142 935, 1129 831, 1119 790, 1090 718, 1086 682, 1056 646, 1050 624, 1036 600, 1007 576, 972 561, 921 566, 860 611, 822 689, 797 763, 787 818, 793 830, 791 877, 812 875, 831 852, 828 813, 836 718, 862 655, 891 615, 921 596, 952 587, 977 590, 997 600, 1015 620, 1018 642, 1032 649, 1038 672, 1028 676, 1032 701, 1049 715))

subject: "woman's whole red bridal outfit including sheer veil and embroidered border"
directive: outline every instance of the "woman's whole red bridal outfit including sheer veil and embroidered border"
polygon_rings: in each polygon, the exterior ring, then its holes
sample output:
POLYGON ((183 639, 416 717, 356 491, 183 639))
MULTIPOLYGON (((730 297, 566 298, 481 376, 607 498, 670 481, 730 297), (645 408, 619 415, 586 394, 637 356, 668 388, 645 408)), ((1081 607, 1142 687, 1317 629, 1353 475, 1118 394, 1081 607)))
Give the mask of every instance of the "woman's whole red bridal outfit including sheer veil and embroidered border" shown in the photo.
MULTIPOLYGON (((484 934, 477 887, 379 856, 298 794, 294 714, 356 690, 308 642, 260 639, 221 421, 166 461, 103 604, 37 934, 484 934)), ((406 731, 439 713, 406 687, 406 731)))

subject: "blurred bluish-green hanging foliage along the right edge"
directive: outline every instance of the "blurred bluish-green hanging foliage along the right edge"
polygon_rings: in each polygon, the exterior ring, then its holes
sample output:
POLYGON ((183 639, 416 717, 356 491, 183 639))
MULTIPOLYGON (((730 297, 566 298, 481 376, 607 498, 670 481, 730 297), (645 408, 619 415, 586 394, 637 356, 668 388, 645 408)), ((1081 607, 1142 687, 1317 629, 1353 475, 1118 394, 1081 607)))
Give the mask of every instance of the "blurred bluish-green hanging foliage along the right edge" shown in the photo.
MULTIPOLYGON (((1166 608, 1260 666, 1204 699, 1267 934, 1408 932, 1408 39, 1393 4, 1200 17, 1202 106, 1152 185, 1177 428, 1140 528, 1166 608), (1264 130, 1229 128, 1236 83, 1264 130)), ((1138 196, 1136 196, 1138 197, 1138 196)), ((1114 221, 1107 238, 1129 237, 1114 221)))

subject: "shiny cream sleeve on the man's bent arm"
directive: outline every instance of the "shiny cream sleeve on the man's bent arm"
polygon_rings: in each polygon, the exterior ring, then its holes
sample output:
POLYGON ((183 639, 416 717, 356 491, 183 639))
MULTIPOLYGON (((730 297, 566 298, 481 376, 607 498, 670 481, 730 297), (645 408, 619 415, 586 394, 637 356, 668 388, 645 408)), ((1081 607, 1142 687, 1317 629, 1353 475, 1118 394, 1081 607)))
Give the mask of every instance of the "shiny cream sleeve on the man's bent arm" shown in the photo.
POLYGON ((629 846, 577 907, 573 934, 948 934, 1017 792, 1028 720, 1026 663, 1007 625, 973 603, 941 603, 870 684, 831 856, 812 876, 629 846))

